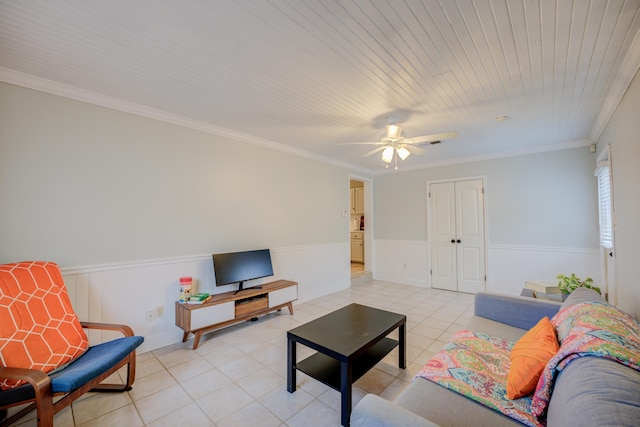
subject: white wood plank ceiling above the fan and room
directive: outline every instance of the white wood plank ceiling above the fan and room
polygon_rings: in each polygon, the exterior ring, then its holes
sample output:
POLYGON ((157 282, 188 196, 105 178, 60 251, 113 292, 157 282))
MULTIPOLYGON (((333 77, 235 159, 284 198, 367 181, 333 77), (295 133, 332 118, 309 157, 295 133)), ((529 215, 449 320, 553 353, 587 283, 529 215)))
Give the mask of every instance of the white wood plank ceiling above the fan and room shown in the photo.
POLYGON ((639 28, 640 0, 0 0, 0 80, 378 173, 338 143, 389 115, 460 133, 401 169, 588 145, 639 28))

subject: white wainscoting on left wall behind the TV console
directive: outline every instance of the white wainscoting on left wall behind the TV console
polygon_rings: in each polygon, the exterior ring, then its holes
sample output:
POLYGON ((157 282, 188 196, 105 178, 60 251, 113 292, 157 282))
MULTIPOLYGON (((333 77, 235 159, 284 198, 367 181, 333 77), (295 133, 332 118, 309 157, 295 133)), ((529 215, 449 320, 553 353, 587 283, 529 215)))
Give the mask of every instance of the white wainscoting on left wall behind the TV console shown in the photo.
MULTIPOLYGON (((298 282, 298 302, 350 286, 348 243, 271 249, 274 276, 246 286, 277 279, 298 282)), ((175 325, 175 301, 179 278, 193 277, 194 292, 220 293, 234 285, 214 285, 211 255, 185 256, 87 267, 67 267, 62 274, 80 320, 122 323, 145 338, 144 353, 182 340, 175 325), (147 321, 148 310, 164 309, 164 316, 147 321)), ((89 331, 92 343, 117 337, 111 332, 89 331)))

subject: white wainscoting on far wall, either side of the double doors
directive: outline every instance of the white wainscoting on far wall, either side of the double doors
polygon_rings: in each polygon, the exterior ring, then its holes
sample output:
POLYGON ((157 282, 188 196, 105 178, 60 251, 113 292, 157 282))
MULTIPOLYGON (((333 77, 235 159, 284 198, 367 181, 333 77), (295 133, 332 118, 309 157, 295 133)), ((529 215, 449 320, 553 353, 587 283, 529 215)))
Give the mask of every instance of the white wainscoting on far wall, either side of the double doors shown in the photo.
MULTIPOLYGON (((429 242, 375 240, 374 279, 431 286, 429 242)), ((597 249, 490 245, 487 250, 488 291, 519 295, 527 280, 555 280, 558 274, 600 277, 597 249)))

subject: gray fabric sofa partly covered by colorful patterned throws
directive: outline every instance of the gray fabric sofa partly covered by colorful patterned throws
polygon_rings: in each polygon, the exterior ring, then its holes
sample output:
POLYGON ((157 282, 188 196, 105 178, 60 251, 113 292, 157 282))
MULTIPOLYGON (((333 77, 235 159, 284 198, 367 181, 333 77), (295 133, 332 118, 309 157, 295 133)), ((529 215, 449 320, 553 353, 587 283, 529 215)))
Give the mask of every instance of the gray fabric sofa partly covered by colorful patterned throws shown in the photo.
MULTIPOLYGON (((544 316, 561 307, 604 299, 589 289, 574 291, 562 304, 527 297, 478 293, 465 329, 517 341, 544 316)), ((640 355, 639 355, 640 356, 640 355)), ((394 401, 365 396, 351 414, 353 427, 514 426, 514 419, 423 378, 394 401)), ((557 377, 547 426, 639 426, 640 372, 598 357, 580 357, 557 377)))

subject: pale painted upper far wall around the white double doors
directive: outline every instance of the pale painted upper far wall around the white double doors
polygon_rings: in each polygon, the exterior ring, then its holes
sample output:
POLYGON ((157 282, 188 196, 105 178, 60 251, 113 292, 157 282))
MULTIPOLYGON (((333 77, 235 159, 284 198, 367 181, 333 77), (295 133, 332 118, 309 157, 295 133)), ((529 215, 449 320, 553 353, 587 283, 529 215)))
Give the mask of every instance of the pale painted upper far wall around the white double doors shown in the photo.
POLYGON ((376 177, 374 237, 428 240, 427 182, 482 176, 489 244, 597 248, 595 161, 581 147, 376 177))

